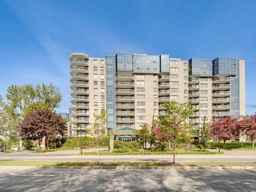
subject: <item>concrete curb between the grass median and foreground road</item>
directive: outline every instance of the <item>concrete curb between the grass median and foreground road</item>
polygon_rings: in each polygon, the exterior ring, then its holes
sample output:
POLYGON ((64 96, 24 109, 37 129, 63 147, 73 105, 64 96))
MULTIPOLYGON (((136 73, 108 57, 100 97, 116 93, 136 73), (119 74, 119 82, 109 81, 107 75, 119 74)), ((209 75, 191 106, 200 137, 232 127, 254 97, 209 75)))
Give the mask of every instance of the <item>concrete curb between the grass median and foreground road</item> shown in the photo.
POLYGON ((74 167, 56 167, 56 166, 0 166, 6 168, 40 168, 40 169, 162 169, 162 170, 256 170, 256 166, 74 166, 74 167))

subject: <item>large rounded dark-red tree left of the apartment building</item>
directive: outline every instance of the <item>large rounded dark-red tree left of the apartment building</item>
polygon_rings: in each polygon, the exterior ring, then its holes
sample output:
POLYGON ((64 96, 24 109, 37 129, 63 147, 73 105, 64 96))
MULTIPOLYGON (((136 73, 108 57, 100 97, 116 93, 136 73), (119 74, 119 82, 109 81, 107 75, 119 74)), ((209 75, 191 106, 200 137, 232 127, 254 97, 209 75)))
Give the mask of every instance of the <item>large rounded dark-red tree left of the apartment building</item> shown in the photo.
POLYGON ((24 140, 38 140, 39 145, 42 138, 46 138, 47 147, 51 139, 57 135, 63 135, 66 131, 65 120, 56 112, 48 110, 37 110, 30 113, 19 124, 20 137, 24 140))

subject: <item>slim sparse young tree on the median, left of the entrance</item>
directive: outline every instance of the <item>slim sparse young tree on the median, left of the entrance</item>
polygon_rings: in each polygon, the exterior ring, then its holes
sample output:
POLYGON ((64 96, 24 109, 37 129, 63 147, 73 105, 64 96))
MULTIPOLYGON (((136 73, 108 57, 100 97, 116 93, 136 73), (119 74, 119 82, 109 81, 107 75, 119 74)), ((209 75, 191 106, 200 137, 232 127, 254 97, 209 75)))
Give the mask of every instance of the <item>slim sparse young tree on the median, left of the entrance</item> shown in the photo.
POLYGON ((107 135, 108 130, 108 116, 106 113, 106 110, 103 108, 100 114, 94 113, 94 122, 90 123, 90 130, 89 134, 90 136, 96 138, 96 144, 97 144, 97 163, 99 162, 99 145, 100 140, 104 138, 107 135))

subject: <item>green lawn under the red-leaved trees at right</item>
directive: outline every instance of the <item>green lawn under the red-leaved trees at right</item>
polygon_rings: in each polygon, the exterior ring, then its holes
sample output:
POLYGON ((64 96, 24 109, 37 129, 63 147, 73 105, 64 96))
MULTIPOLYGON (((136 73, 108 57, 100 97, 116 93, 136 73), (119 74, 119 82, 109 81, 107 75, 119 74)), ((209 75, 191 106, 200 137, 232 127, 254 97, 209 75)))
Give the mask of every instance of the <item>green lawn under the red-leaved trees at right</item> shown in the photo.
MULTIPOLYGON (((211 146, 217 148, 219 147, 219 143, 211 142, 211 146)), ((242 143, 226 143, 226 146, 224 146, 223 142, 220 142, 220 148, 226 150, 242 150, 242 143)), ((243 143, 243 150, 256 150, 256 148, 252 148, 252 143, 243 143)))

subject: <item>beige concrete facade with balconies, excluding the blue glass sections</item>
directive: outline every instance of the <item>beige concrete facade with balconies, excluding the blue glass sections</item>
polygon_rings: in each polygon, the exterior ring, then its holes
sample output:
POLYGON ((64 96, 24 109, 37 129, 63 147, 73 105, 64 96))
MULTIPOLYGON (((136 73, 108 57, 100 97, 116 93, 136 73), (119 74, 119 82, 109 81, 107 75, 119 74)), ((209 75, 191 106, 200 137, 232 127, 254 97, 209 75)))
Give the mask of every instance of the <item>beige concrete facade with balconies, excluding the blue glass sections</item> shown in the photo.
MULTIPOLYGON (((143 123, 151 124, 158 114, 164 114, 162 104, 170 100, 192 101, 194 115, 189 122, 195 123, 195 127, 200 126, 204 115, 210 121, 231 114, 230 75, 190 76, 188 60, 170 58, 169 61, 169 72, 116 72, 116 129, 125 126, 140 129, 143 123)), ((79 136, 80 126, 84 135, 89 122, 94 121, 93 114, 107 107, 106 59, 73 53, 70 62, 71 129, 72 136, 79 136)), ((245 62, 239 62, 241 115, 245 114, 245 62)))

